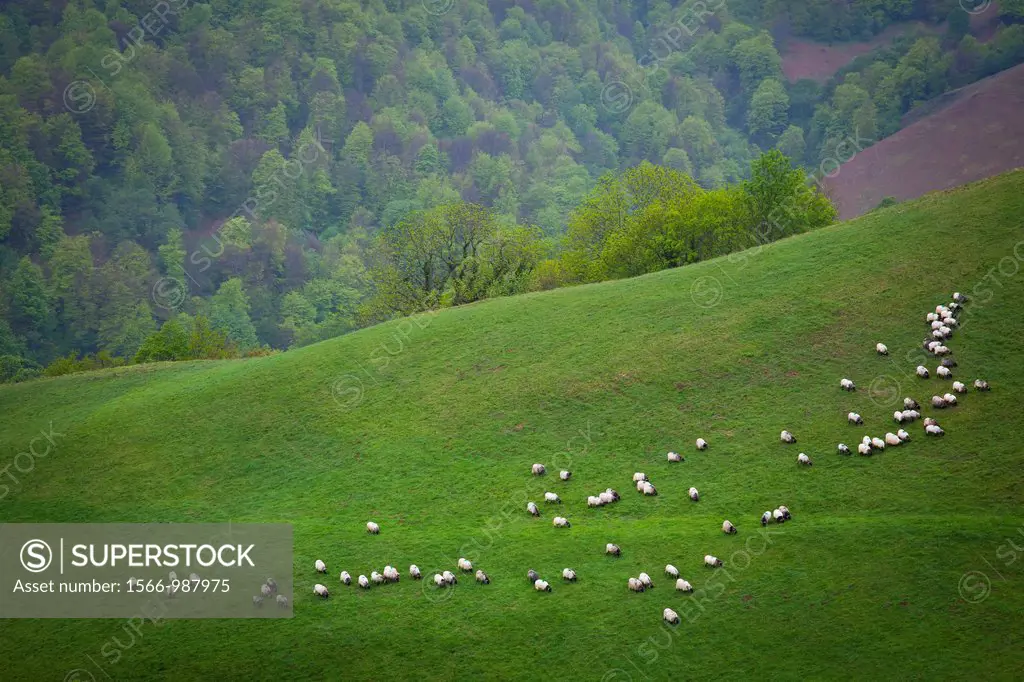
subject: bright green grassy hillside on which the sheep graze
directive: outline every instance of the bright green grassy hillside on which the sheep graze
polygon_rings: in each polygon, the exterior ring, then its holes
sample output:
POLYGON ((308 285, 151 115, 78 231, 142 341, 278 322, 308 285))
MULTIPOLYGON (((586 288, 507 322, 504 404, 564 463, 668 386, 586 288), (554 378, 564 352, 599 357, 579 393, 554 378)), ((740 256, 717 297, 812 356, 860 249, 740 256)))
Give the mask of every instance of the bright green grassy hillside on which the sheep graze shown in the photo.
POLYGON ((1018 677, 1024 560, 999 548, 1024 543, 1024 273, 991 268, 1021 265, 1022 215, 1016 172, 732 259, 281 355, 5 386, 0 465, 50 422, 63 436, 0 501, 4 521, 292 523, 297 594, 290 621, 147 625, 116 664, 100 647, 126 639, 120 621, 5 621, 4 678, 62 679, 87 656, 116 679, 1018 677), (940 415, 945 438, 919 423, 903 447, 836 455, 895 430, 890 397, 949 390, 912 376, 924 316, 979 283, 950 345, 957 377, 992 391, 940 415), (719 300, 700 307, 693 292, 719 300), (842 392, 842 377, 859 390, 842 392), (849 410, 866 426, 848 427, 849 410), (783 428, 797 445, 778 442, 783 428), (669 450, 686 461, 669 465, 669 450), (531 477, 534 462, 549 475, 531 477), (640 498, 634 471, 660 495, 640 498), (609 485, 623 501, 587 509, 609 485), (526 515, 546 489, 570 529, 551 509, 526 515), (758 519, 779 504, 795 519, 767 543, 758 519), (408 579, 336 582, 386 563, 455 569, 461 553, 492 585, 439 599, 408 579), (706 570, 706 553, 724 571, 706 570), (315 558, 328 601, 311 594, 315 558), (675 593, 670 562, 708 594, 675 593), (579 584, 562 584, 564 566, 579 584), (553 592, 535 593, 527 568, 553 592), (632 594, 641 570, 656 587, 632 594), (980 603, 958 594, 969 570, 991 580, 980 603), (699 615, 670 635, 665 606, 699 615))

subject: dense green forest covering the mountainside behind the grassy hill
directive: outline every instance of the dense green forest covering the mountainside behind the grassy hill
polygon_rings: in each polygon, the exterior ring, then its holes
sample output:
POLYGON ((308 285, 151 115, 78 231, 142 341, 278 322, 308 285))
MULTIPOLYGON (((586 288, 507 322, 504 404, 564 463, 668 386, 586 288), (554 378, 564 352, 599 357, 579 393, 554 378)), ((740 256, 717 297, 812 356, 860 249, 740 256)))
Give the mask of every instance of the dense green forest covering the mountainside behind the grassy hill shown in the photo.
POLYGON ((828 224, 805 178, 838 144, 1024 61, 1024 0, 985 42, 965 4, 4 3, 0 381, 274 352, 828 224), (786 40, 909 20, 933 30, 782 75, 786 40))

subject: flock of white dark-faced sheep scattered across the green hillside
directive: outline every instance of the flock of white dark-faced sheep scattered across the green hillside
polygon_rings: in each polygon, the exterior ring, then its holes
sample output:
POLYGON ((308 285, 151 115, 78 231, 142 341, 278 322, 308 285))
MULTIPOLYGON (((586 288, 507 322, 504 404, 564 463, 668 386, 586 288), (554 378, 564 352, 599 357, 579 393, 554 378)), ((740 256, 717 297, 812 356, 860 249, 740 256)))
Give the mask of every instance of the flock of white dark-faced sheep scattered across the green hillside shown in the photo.
MULTIPOLYGON (((932 335, 929 339, 925 340, 924 347, 926 350, 933 353, 937 357, 943 356, 941 364, 936 370, 936 375, 943 379, 951 379, 952 369, 956 367, 956 361, 954 359, 952 359, 951 357, 945 357, 946 355, 949 355, 951 351, 949 350, 948 346, 944 345, 943 342, 948 340, 952 336, 953 333, 952 330, 957 326, 956 315, 963 309, 964 303, 966 301, 967 298, 965 296, 963 296, 959 293, 955 293, 953 294, 952 303, 950 303, 948 306, 946 305, 936 306, 935 311, 928 313, 927 316, 927 321, 932 327, 932 335)), ((889 354, 889 349, 883 343, 879 343, 876 346, 876 351, 880 355, 889 354)), ((925 379, 929 378, 930 376, 928 369, 923 366, 918 368, 916 374, 918 376, 925 379)), ((974 382, 974 386, 979 391, 989 390, 988 383, 981 379, 976 380, 974 382)), ((846 391, 857 390, 857 387, 854 384, 854 382, 846 378, 840 381, 840 387, 846 391)), ((967 392, 967 386, 959 381, 954 381, 952 383, 952 391, 953 391, 952 393, 945 393, 944 395, 933 396, 931 400, 932 407, 935 409, 945 409, 945 408, 955 407, 956 396, 954 395, 954 393, 967 392)), ((904 398, 903 407, 904 410, 896 411, 895 413, 893 413, 893 419, 898 425, 910 423, 916 421, 918 419, 921 419, 922 417, 920 412, 921 406, 918 403, 916 400, 909 397, 904 398)), ((860 426, 864 424, 863 418, 855 412, 850 412, 847 415, 847 421, 849 424, 852 425, 860 426)), ((926 434, 943 435, 944 431, 938 425, 938 422, 935 419, 925 418, 924 424, 925 424, 926 434)), ((909 433, 907 433, 902 428, 898 429, 896 433, 892 432, 886 433, 885 436, 882 438, 865 435, 861 440, 861 442, 858 444, 857 452, 861 455, 868 456, 871 455, 872 452, 876 450, 878 451, 885 450, 887 445, 889 446, 899 445, 906 442, 909 439, 910 439, 909 433)), ((797 442, 796 436, 794 436, 794 434, 790 431, 782 431, 780 434, 780 440, 783 443, 797 442)), ((695 444, 698 451, 708 450, 708 441, 703 438, 697 438, 695 444)), ((851 454, 850 449, 845 443, 839 443, 838 451, 841 455, 851 454)), ((673 464, 673 463, 681 463, 684 461, 684 459, 678 453, 669 453, 668 461, 670 464, 673 464)), ((797 461, 799 464, 804 466, 811 466, 812 464, 811 459, 805 453, 800 453, 800 455, 797 458, 797 461)), ((534 464, 534 466, 530 468, 530 473, 535 476, 544 476, 547 473, 547 468, 540 463, 534 464)), ((568 481, 571 478, 571 476, 572 473, 570 471, 559 472, 559 478, 562 481, 568 481)), ((650 481, 650 479, 647 477, 645 473, 643 472, 634 473, 633 482, 636 484, 636 489, 638 493, 644 496, 657 495, 657 488, 654 487, 654 484, 650 481)), ((700 500, 700 494, 696 487, 690 487, 687 495, 693 502, 698 502, 700 500)), ((615 492, 613 488, 609 487, 597 495, 588 496, 587 506, 601 507, 604 505, 614 504, 620 500, 621 497, 618 493, 615 492)), ((556 493, 552 492, 546 492, 544 494, 544 502, 545 504, 557 504, 557 505, 562 504, 561 498, 556 493)), ((526 512, 531 516, 541 516, 541 509, 535 502, 526 503, 526 512)), ((769 523, 783 523, 785 521, 791 520, 793 516, 790 513, 788 508, 785 507, 784 505, 779 505, 776 509, 766 511, 761 515, 761 525, 765 526, 769 523)), ((552 520, 552 523, 555 527, 563 527, 563 528, 571 527, 569 520, 564 516, 555 516, 552 520)), ((374 521, 370 521, 367 523, 367 532, 371 535, 377 535, 380 532, 380 526, 374 521)), ((735 535, 737 532, 736 526, 731 521, 725 520, 722 522, 722 532, 726 535, 735 535)), ((622 555, 622 550, 617 545, 613 543, 608 543, 607 545, 605 545, 605 554, 617 557, 622 555)), ((328 572, 327 565, 321 559, 317 559, 314 565, 316 572, 318 573, 328 572)), ((703 565, 710 568, 717 568, 721 567, 723 563, 722 560, 719 559, 718 557, 708 554, 705 555, 703 565)), ((473 572, 473 564, 466 558, 459 559, 457 568, 459 571, 463 573, 473 572)), ((409 574, 414 580, 422 580, 423 578, 419 567, 416 564, 413 564, 409 567, 409 574)), ((687 580, 680 577, 679 569, 676 568, 674 565, 672 564, 666 565, 665 574, 668 576, 670 579, 674 579, 676 581, 676 590, 684 593, 693 592, 693 586, 687 580)), ((490 583, 490 579, 482 570, 476 570, 475 578, 476 582, 480 584, 487 585, 490 583)), ((532 568, 530 568, 526 572, 526 579, 528 583, 534 586, 535 590, 539 592, 551 592, 551 584, 548 581, 542 579, 541 576, 532 568)), ((348 586, 352 584, 352 578, 346 570, 341 571, 340 580, 343 585, 348 586)), ((451 570, 444 570, 440 573, 435 573, 431 580, 433 581, 434 585, 437 588, 446 588, 456 585, 458 583, 456 574, 451 570)), ((566 583, 577 582, 577 571, 568 567, 563 568, 562 580, 566 583)), ((364 589, 370 589, 373 585, 397 583, 398 581, 399 581, 398 570, 393 566, 388 565, 385 566, 383 571, 380 573, 378 573, 377 571, 372 571, 369 578, 367 578, 367 576, 359 576, 356 583, 359 587, 364 589)), ((644 592, 653 587, 653 582, 651 581, 651 578, 648 573, 641 572, 636 578, 632 577, 629 578, 627 581, 627 585, 629 589, 633 592, 644 592)), ((263 587, 265 589, 267 586, 263 587)), ((318 597, 327 598, 329 596, 329 591, 325 585, 316 584, 313 587, 313 594, 315 594, 318 597)), ((264 597, 268 596, 268 594, 264 593, 263 596, 264 597)), ((257 599, 259 599, 259 597, 254 597, 253 601, 258 605, 257 599)), ((281 599, 280 596, 279 599, 281 599)), ((679 614, 672 608, 666 608, 663 611, 663 619, 670 624, 678 624, 680 621, 679 614)))

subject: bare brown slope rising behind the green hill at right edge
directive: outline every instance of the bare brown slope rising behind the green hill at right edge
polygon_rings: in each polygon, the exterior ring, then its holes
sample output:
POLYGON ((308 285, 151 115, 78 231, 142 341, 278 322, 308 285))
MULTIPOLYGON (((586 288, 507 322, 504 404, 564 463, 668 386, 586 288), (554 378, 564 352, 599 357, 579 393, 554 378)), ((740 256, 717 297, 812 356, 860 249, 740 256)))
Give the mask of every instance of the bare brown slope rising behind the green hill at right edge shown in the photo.
POLYGON ((886 197, 929 191, 1024 166, 1024 65, 973 83, 948 104, 872 144, 825 180, 843 220, 886 197))

